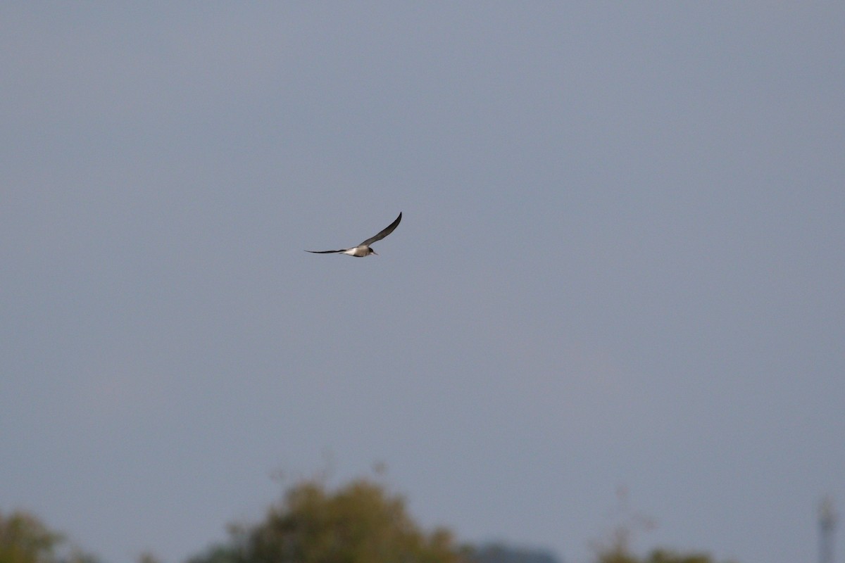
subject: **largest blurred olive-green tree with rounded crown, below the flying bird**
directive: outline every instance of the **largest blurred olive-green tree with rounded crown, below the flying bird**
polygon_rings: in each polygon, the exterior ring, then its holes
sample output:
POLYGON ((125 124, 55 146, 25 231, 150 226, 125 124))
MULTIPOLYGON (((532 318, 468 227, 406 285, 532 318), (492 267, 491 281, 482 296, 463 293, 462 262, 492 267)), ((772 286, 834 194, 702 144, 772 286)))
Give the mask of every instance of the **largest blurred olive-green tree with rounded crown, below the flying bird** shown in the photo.
POLYGON ((328 490, 307 479, 254 526, 231 528, 232 544, 191 563, 458 563, 451 533, 426 533, 405 501, 368 479, 328 490))

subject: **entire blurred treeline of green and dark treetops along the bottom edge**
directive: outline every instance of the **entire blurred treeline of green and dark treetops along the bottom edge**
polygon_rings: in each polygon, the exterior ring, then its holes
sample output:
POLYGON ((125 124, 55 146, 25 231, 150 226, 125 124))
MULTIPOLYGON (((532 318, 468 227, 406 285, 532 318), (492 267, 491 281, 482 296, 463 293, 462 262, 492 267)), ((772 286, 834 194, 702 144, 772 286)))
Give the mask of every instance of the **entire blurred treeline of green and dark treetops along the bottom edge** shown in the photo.
MULTIPOLYGON (((401 495, 371 479, 330 488, 303 479, 259 522, 231 524, 229 537, 183 563, 560 563, 542 550, 462 544, 446 528, 424 530, 401 495)), ((618 531, 617 531, 618 532, 618 531)), ((597 544, 591 563, 713 563, 710 555, 655 549, 631 553, 629 534, 597 544)), ((0 512, 0 563, 101 563, 26 512, 0 512)), ((157 563, 155 555, 139 563, 157 563)))

